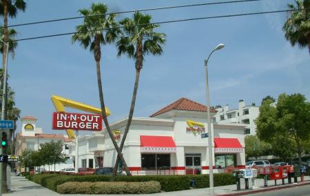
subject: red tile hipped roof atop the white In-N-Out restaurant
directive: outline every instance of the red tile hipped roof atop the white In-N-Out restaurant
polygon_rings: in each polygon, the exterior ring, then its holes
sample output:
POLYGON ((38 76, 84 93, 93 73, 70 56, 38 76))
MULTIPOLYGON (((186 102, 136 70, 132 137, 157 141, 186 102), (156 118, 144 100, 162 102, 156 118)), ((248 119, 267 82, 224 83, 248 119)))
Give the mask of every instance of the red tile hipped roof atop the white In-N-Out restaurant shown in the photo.
MULTIPOLYGON (((189 100, 187 98, 180 98, 176 100, 175 102, 173 102, 172 104, 164 107, 160 111, 156 111, 149 117, 158 116, 162 113, 171 111, 173 109, 187 110, 187 111, 207 111, 207 107, 205 107, 205 105, 201 105, 200 103, 194 102, 193 100, 189 100)), ((210 112, 216 112, 216 110, 210 107, 210 112)))

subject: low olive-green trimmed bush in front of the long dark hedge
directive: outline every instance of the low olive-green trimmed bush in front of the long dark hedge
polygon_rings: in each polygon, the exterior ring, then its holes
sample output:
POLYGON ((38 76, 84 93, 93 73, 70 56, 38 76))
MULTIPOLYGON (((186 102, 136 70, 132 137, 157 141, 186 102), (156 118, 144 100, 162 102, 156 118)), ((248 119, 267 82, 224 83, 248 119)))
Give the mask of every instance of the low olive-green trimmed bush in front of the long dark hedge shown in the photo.
POLYGON ((57 186, 61 194, 148 194, 159 193, 159 182, 66 182, 57 186))

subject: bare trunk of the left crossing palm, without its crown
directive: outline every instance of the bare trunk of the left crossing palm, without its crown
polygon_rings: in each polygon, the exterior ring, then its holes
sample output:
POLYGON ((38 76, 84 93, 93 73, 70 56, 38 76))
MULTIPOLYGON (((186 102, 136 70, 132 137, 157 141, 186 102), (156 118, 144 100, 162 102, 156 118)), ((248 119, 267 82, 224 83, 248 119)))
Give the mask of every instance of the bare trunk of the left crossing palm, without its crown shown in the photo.
POLYGON ((118 154, 118 156, 121 158, 124 168, 125 168, 125 172, 127 175, 132 175, 128 169, 128 166, 124 160, 123 154, 121 153, 120 149, 118 148, 118 145, 116 143, 116 141, 113 138, 113 134, 111 131, 111 127, 109 122, 107 121, 107 113, 105 113, 105 102, 103 100, 103 90, 102 90, 102 85, 101 85, 101 71, 100 71, 100 62, 96 61, 96 70, 97 70, 97 81, 98 81, 98 89, 99 89, 99 98, 100 98, 100 103, 101 103, 101 115, 103 117, 103 122, 105 122, 105 127, 107 128, 107 133, 109 133, 110 138, 112 140, 112 143, 116 149, 116 152, 118 154))

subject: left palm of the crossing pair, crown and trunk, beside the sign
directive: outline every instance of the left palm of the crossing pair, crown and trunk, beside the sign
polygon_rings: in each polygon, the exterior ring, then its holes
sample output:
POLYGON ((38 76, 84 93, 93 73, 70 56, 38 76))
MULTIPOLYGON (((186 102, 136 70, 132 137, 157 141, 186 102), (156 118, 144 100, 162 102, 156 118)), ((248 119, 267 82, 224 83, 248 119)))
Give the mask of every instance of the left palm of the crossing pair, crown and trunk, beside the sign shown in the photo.
MULTIPOLYGON (((107 114, 105 113, 105 102, 103 99, 103 89, 101 84, 101 71, 100 71, 100 60, 101 60, 101 44, 105 45, 107 43, 112 43, 118 37, 118 33, 121 31, 118 29, 118 25, 115 22, 115 14, 109 14, 107 17, 105 14, 108 12, 107 6, 103 3, 92 3, 90 10, 83 9, 79 10, 84 18, 82 25, 76 26, 76 34, 72 35, 72 42, 79 41, 81 46, 87 49, 90 48, 90 52, 94 54, 94 59, 96 61, 96 72, 97 81, 99 88, 99 98, 101 103, 101 114, 103 121, 105 122, 105 127, 107 133, 109 133, 110 138, 114 144, 114 147, 118 154, 121 153, 116 141, 113 138, 113 134, 110 128, 110 124, 107 121, 107 114), (100 16, 91 17, 94 14, 101 14, 100 16)), ((131 175, 127 164, 121 155, 121 160, 124 163, 125 171, 127 175, 131 175)))

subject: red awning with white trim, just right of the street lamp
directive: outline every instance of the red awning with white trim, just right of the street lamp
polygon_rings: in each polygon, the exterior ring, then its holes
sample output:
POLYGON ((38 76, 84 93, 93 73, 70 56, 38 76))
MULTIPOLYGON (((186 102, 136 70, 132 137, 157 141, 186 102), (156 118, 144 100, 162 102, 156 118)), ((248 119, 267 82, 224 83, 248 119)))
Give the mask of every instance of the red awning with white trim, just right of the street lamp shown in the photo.
POLYGON ((243 148, 237 138, 214 138, 215 153, 242 153, 243 148))

